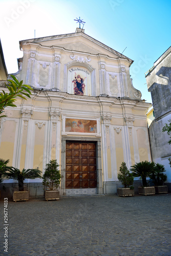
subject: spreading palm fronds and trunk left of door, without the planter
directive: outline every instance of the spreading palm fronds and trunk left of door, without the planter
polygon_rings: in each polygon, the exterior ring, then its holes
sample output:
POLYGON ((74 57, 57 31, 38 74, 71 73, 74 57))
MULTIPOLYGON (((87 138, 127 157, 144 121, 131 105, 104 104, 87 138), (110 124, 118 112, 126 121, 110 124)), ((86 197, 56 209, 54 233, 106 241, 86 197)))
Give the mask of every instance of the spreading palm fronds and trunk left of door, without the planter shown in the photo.
POLYGON ((5 173, 5 177, 18 181, 19 191, 24 191, 24 180, 25 179, 36 179, 41 178, 41 171, 38 169, 23 169, 20 171, 14 167, 8 167, 5 173))

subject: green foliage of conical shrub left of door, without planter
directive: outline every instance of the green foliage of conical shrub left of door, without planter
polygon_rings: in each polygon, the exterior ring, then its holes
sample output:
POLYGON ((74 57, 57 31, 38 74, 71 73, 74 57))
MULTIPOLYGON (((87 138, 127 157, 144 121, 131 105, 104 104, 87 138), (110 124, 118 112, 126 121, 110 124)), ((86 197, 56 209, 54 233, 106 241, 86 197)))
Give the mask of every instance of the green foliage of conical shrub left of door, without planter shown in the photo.
POLYGON ((42 176, 42 184, 49 188, 49 190, 56 190, 60 184, 61 175, 58 167, 57 160, 51 160, 46 164, 45 173, 42 176))

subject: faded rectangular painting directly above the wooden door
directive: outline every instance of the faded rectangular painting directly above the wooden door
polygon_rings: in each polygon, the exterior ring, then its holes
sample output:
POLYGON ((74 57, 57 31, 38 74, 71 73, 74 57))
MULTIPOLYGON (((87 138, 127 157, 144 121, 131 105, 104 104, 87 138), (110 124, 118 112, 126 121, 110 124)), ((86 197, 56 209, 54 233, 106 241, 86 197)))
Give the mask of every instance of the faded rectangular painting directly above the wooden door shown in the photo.
POLYGON ((97 121, 66 118, 66 132, 97 133, 97 121))

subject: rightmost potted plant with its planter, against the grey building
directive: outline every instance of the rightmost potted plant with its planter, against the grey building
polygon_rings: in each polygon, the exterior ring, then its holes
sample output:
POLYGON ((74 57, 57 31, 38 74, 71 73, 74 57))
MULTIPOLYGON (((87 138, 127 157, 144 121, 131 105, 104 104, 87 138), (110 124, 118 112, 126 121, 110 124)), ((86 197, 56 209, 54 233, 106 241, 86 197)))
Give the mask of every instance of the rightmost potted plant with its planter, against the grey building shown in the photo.
POLYGON ((149 175, 154 183, 156 194, 168 193, 168 187, 163 185, 167 180, 167 175, 163 174, 164 172, 166 172, 164 165, 157 163, 152 174, 149 175))

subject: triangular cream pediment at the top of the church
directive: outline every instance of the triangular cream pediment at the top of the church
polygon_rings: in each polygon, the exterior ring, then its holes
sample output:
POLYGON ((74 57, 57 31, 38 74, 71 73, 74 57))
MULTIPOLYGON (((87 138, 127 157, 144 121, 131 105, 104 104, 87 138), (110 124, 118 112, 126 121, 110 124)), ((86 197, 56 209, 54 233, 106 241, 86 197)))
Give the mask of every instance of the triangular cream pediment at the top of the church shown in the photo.
POLYGON ((124 58, 132 62, 130 58, 82 32, 23 40, 20 41, 21 47, 24 42, 34 42, 41 46, 61 47, 70 51, 85 52, 95 55, 104 54, 113 58, 124 58))

